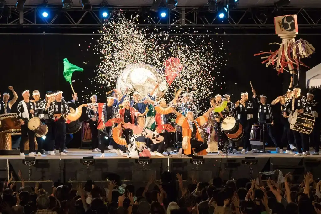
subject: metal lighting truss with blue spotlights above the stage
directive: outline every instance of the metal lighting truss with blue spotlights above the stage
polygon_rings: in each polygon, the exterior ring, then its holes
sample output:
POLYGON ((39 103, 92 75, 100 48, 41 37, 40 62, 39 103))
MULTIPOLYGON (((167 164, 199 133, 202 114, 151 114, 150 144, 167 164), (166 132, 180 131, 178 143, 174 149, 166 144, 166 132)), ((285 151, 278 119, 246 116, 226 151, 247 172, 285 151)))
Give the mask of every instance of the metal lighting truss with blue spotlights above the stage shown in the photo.
MULTIPOLYGON (((93 32, 101 30, 104 20, 101 17, 100 7, 92 7, 91 11, 83 11, 81 6, 73 6, 63 10, 59 6, 48 6, 50 14, 48 18, 42 17, 41 8, 25 6, 23 12, 11 8, 12 16, 0 16, 0 28, 2 32, 9 32, 11 28, 55 29, 59 32, 69 32, 70 29, 82 29, 81 32, 93 32), (85 29, 85 31, 84 31, 85 29), (87 31, 86 31, 87 30, 87 31)), ((287 14, 297 14, 300 33, 318 33, 321 27, 321 8, 293 8, 285 7, 276 10, 273 7, 238 7, 230 10, 229 18, 218 17, 217 13, 209 13, 205 7, 178 7, 169 10, 168 15, 160 18, 160 14, 144 7, 112 7, 108 8, 108 17, 111 13, 122 11, 124 15, 139 15, 138 22, 145 28, 163 28, 169 26, 184 29, 213 30, 213 27, 223 28, 227 33, 231 32, 256 32, 261 34, 274 33, 273 17, 287 14)), ((105 18, 106 20, 106 18, 105 18)), ((77 32, 77 30, 72 30, 77 32)), ((33 31, 32 31, 33 32, 33 31)))

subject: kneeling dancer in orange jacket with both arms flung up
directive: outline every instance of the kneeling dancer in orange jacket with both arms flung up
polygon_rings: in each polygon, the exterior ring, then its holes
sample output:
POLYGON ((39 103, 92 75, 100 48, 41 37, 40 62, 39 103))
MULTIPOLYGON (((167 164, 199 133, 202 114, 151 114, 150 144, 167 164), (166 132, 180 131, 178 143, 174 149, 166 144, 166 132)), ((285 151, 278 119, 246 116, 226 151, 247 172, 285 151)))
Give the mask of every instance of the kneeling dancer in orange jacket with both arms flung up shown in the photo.
POLYGON ((199 116, 194 119, 193 112, 191 110, 186 111, 186 117, 174 110, 173 113, 177 115, 176 123, 182 126, 183 142, 182 148, 178 151, 178 157, 182 157, 182 154, 192 157, 199 155, 206 155, 207 143, 204 143, 200 132, 200 126, 206 123, 210 112, 214 107, 210 108, 203 116, 199 116))

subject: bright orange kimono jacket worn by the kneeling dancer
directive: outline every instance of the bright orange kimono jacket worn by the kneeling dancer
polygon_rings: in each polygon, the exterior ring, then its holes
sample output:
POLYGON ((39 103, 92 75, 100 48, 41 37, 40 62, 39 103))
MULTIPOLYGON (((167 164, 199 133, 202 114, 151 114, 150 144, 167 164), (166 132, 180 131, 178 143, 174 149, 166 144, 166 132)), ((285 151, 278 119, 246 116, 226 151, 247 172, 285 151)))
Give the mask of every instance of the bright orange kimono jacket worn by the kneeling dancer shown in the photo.
MULTIPOLYGON (((199 131, 200 131, 200 126, 206 123, 207 118, 204 116, 199 116, 197 117, 193 123, 196 126, 196 138, 198 141, 204 142, 199 131)), ((182 135, 183 135, 183 142, 182 142, 182 148, 184 150, 185 155, 190 155, 192 154, 192 147, 191 147, 191 137, 192 137, 192 130, 190 128, 189 121, 186 117, 184 117, 182 114, 177 116, 176 121, 175 121, 179 126, 182 127, 182 135)), ((206 150, 202 150, 197 155, 206 155, 206 150)))

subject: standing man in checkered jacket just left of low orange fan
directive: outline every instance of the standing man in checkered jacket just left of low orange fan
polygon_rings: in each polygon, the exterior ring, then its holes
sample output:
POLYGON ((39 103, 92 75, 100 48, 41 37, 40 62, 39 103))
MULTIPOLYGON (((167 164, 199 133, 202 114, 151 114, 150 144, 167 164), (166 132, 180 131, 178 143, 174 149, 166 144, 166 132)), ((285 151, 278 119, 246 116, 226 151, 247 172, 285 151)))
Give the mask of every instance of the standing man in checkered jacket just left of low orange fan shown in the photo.
POLYGON ((62 91, 55 93, 56 100, 53 101, 49 107, 49 117, 53 120, 55 126, 55 143, 56 149, 59 149, 60 155, 67 155, 64 153, 66 140, 66 120, 65 118, 70 113, 69 106, 62 97, 62 91))

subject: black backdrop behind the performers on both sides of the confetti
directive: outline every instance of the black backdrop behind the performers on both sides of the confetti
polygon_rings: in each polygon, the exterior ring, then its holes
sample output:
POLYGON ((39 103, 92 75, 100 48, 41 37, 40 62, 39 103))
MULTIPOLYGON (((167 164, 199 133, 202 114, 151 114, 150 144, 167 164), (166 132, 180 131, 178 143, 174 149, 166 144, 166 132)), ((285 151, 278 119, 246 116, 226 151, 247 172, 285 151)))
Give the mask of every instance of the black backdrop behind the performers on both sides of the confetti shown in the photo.
MULTIPOLYGON (((213 36, 213 38, 215 37, 213 36)), ((301 38, 300 35, 298 38, 301 38)), ((321 48, 318 36, 306 35, 302 38, 314 45, 317 51, 321 48)), ((71 87, 63 77, 63 59, 68 58, 69 62, 84 68, 83 73, 77 72, 73 76, 73 79, 76 80, 73 83, 74 89, 81 98, 86 92, 84 87, 97 87, 90 82, 96 65, 99 63, 99 56, 94 54, 90 47, 97 39, 98 36, 88 35, 1 35, 1 94, 8 90, 8 86, 13 86, 18 93, 18 101, 22 99, 20 92, 23 89, 30 91, 38 89, 41 98, 44 98, 44 93, 47 90, 62 90, 65 99, 71 99, 71 87)), ((217 39, 219 39, 218 36, 217 39)), ((230 35, 224 36, 222 39, 227 48, 227 54, 224 56, 227 60, 227 67, 223 71, 223 77, 218 77, 222 78, 222 89, 213 91, 213 93, 229 92, 232 95, 232 101, 235 101, 239 99, 241 90, 247 90, 250 97, 249 81, 251 80, 257 93, 265 93, 269 102, 284 94, 289 85, 290 74, 285 72, 278 76, 275 70, 261 64, 263 60, 259 56, 253 56, 260 50, 274 50, 277 46, 268 44, 281 42, 280 38, 276 35, 230 35)), ((305 59, 304 63, 312 68, 320 63, 320 57, 321 54, 317 52, 311 58, 305 59)), ((299 82, 302 87, 305 85, 304 73, 307 70, 307 68, 302 68, 300 72, 299 82)), ((216 76, 215 73, 213 76, 216 76)), ((295 82, 297 82, 297 77, 295 82)), ((305 92, 302 90, 302 93, 305 92)), ((81 99, 79 101, 87 102, 87 100, 81 99)), ((104 98, 99 101, 104 101, 104 98)), ((15 108, 16 105, 13 106, 13 111, 15 108)), ((273 109, 275 116, 278 117, 279 107, 273 109)), ((279 130, 280 127, 277 127, 279 130)), ((79 146, 79 142, 76 140, 73 145, 79 146)))

